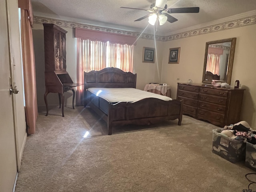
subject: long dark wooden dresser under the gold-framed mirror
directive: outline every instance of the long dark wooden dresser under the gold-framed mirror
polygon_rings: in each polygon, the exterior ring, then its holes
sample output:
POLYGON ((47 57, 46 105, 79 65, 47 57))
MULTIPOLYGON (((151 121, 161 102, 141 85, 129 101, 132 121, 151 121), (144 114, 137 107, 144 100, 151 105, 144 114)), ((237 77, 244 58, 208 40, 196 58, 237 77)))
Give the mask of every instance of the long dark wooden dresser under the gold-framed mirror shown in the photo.
POLYGON ((183 114, 216 126, 240 121, 244 89, 206 84, 178 83, 177 99, 183 100, 183 114))

